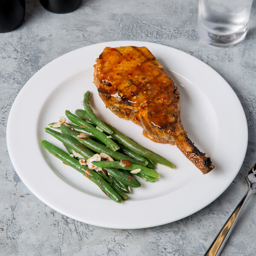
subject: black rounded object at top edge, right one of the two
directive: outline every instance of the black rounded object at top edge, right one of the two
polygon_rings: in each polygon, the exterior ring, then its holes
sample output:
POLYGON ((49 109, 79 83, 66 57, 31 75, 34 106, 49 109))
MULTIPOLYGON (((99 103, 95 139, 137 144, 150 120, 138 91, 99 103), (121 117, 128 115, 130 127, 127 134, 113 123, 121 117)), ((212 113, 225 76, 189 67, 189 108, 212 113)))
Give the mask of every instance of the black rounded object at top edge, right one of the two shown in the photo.
POLYGON ((81 2, 82 0, 40 0, 41 5, 47 11, 54 13, 73 12, 80 6, 81 2))

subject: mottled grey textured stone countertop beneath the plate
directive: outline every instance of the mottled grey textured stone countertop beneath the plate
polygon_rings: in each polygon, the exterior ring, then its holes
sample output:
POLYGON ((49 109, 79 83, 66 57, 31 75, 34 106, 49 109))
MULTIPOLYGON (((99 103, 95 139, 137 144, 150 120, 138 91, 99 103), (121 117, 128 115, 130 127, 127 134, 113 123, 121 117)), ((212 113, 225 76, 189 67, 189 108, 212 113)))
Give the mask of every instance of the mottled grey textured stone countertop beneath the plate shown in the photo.
MULTIPOLYGON (((256 1, 245 40, 231 48, 198 38, 197 12, 196 0, 84 0, 75 12, 57 15, 38 0, 26 0, 22 26, 0 34, 0 255, 204 254, 246 192, 244 175, 256 161, 256 1), (116 40, 155 42, 199 58, 227 80, 247 117, 247 154, 229 188, 201 211, 160 227, 106 229, 61 215, 26 188, 7 151, 9 111, 26 81, 64 53, 116 40)), ((223 256, 255 255, 255 199, 242 212, 223 256)))

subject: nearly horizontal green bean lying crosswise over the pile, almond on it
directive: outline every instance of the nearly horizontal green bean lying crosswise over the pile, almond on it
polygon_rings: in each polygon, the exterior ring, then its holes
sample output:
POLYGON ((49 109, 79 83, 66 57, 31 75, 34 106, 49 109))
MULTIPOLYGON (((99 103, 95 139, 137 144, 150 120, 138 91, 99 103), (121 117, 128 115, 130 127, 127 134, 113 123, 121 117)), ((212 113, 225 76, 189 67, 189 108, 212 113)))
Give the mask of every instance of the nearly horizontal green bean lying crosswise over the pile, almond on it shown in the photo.
POLYGON ((140 169, 140 172, 145 175, 149 175, 155 178, 159 178, 160 175, 153 169, 149 169, 145 166, 140 166, 137 164, 132 163, 131 167, 128 166, 121 166, 119 161, 108 161, 108 162, 97 162, 93 161, 92 162, 94 165, 102 167, 102 168, 118 168, 118 169, 123 169, 123 170, 128 170, 128 171, 133 171, 135 169, 140 169))

